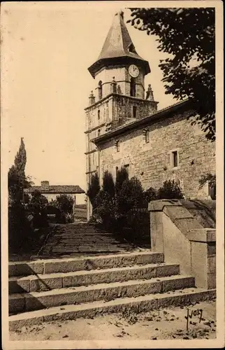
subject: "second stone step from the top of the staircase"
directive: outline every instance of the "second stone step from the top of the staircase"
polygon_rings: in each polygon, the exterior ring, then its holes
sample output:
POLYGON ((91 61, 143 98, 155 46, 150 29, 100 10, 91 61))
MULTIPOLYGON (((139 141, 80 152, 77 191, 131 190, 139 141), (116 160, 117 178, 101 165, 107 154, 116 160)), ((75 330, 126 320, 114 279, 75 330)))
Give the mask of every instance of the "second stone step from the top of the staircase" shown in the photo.
POLYGON ((38 292, 73 286, 89 286, 97 283, 113 283, 133 279, 152 279, 180 274, 176 264, 147 264, 132 267, 114 267, 90 271, 66 272, 57 274, 38 274, 25 277, 10 277, 9 293, 38 292))

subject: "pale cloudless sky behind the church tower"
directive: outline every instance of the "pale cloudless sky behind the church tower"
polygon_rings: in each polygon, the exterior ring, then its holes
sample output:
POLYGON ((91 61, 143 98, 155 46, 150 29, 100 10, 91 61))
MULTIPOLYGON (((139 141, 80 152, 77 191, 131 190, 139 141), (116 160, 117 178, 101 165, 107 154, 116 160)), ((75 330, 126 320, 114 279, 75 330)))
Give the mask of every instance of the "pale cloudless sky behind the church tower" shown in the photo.
MULTIPOLYGON (((3 7, 3 106, 7 164, 24 138, 26 174, 36 185, 85 183, 85 107, 96 81, 96 61, 115 13, 121 8, 87 3, 5 3, 3 7), (6 134, 6 132, 5 132, 6 134)), ((123 8, 122 8, 123 9, 123 8)), ((124 10, 124 9, 123 9, 124 10)), ((130 10, 124 10, 129 20, 130 10)), ((165 94, 155 36, 126 25, 138 55, 150 62, 145 89, 163 109, 176 102, 165 94)))

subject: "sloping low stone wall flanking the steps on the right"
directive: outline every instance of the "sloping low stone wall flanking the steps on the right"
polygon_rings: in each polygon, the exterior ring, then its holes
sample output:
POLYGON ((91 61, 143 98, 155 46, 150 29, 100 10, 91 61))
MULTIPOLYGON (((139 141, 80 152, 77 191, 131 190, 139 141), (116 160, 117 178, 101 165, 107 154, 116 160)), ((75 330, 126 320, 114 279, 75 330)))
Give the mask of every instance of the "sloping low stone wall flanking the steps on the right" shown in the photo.
POLYGON ((215 288, 215 229, 203 228, 179 200, 150 202, 149 211, 152 251, 179 264, 181 274, 194 276, 196 287, 215 288))

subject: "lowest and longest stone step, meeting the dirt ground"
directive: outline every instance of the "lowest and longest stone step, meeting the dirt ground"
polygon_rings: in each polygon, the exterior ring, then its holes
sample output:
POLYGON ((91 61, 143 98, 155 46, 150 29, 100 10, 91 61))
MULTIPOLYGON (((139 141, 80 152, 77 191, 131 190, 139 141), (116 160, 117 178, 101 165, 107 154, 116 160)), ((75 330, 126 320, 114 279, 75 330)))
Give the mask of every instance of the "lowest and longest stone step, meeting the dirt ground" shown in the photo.
POLYGON ((168 293, 157 293, 139 297, 117 298, 105 302, 98 300, 96 302, 87 302, 78 305, 65 305, 63 307, 50 307, 50 309, 41 309, 36 311, 24 312, 9 316, 9 330, 15 331, 23 326, 43 324, 43 322, 65 321, 76 318, 94 318, 99 314, 119 313, 123 311, 147 312, 154 309, 166 308, 173 305, 184 306, 194 304, 195 302, 210 300, 215 298, 216 290, 203 290, 190 288, 183 290, 170 291, 168 293))

